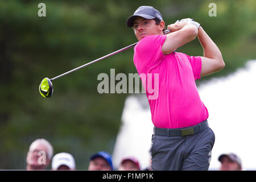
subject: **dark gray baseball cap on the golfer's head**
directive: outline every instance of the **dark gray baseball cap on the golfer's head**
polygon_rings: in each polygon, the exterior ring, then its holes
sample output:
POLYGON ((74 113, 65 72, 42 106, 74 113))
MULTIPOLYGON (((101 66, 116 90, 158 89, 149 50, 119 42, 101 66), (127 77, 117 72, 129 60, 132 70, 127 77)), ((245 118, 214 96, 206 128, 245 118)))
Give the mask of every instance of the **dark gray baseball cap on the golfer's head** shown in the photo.
POLYGON ((160 12, 152 6, 140 6, 133 15, 131 15, 127 19, 127 27, 133 27, 133 21, 136 16, 141 16, 146 19, 154 19, 157 18, 160 21, 163 20, 163 16, 160 14, 160 12))

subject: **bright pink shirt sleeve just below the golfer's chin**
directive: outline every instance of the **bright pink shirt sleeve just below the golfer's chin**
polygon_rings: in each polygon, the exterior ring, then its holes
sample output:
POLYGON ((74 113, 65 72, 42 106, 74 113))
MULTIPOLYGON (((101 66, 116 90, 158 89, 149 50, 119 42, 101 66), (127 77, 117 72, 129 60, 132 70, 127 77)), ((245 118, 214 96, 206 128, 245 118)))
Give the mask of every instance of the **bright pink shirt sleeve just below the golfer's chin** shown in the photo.
POLYGON ((166 35, 148 35, 134 48, 134 61, 147 68, 154 68, 162 62, 162 46, 166 35))

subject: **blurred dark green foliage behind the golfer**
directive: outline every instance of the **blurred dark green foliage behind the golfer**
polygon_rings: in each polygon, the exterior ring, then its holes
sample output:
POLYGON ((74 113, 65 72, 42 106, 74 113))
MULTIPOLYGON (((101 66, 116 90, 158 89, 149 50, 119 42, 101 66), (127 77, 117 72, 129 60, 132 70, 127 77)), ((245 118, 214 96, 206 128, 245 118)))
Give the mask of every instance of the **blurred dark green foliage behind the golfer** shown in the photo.
MULTIPOLYGON (((54 92, 38 92, 44 77, 55 77, 137 42, 126 19, 142 5, 158 9, 166 24, 193 18, 222 52, 224 70, 202 78, 225 76, 255 59, 254 0, 245 1, 42 1, 0 0, 0 169, 25 169, 31 142, 46 138, 57 152, 69 152, 77 169, 87 169, 89 156, 112 154, 127 94, 99 94, 100 73, 137 73, 133 49, 53 81, 54 92), (209 3, 217 16, 210 17, 209 3)), ((177 49, 203 55, 198 40, 177 49)), ((134 116, 136 117, 136 116, 134 116)))

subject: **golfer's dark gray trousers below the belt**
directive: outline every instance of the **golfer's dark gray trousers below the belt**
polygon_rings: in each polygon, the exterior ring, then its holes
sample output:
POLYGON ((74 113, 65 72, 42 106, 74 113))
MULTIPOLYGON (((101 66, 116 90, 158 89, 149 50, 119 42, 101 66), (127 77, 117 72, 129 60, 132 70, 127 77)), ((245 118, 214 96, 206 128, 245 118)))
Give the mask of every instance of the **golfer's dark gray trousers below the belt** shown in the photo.
POLYGON ((199 133, 183 137, 152 135, 150 147, 153 170, 207 171, 215 142, 209 127, 199 133))

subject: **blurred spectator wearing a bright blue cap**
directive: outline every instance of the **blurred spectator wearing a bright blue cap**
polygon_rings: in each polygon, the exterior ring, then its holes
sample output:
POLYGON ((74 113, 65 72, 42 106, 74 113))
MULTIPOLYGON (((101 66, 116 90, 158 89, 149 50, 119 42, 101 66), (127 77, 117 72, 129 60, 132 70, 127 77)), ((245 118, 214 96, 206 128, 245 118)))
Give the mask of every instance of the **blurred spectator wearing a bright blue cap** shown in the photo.
POLYGON ((89 171, 113 170, 112 156, 105 151, 97 152, 90 156, 89 171))

